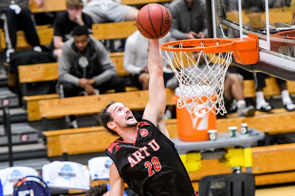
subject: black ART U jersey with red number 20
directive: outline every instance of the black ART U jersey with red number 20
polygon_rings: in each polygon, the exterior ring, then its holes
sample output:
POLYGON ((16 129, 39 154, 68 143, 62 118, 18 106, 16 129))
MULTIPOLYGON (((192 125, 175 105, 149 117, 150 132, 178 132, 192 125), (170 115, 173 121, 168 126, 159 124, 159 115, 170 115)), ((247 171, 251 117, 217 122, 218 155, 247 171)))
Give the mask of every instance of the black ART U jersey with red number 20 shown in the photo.
POLYGON ((138 124, 134 143, 120 138, 106 149, 106 154, 138 195, 196 195, 173 142, 148 120, 138 124))

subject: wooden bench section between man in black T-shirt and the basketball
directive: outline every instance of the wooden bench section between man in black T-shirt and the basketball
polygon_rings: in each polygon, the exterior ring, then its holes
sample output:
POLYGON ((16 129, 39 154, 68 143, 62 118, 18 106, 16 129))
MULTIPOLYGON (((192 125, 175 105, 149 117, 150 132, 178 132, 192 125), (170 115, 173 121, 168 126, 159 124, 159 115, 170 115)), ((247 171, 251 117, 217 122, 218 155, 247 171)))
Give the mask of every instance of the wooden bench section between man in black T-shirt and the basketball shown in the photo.
POLYGON ((93 36, 96 39, 121 39, 127 38, 137 30, 136 21, 111 22, 94 24, 93 36))

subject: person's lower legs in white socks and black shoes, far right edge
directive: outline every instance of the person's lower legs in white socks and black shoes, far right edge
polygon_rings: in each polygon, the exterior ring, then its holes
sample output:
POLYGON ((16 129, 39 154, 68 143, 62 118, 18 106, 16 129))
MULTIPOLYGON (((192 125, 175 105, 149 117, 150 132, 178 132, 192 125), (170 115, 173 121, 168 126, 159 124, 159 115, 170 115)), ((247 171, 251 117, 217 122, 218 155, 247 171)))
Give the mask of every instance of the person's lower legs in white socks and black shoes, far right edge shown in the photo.
MULTIPOLYGON (((263 88, 265 85, 265 78, 268 75, 261 72, 254 72, 254 82, 256 89, 256 109, 261 112, 270 112, 273 107, 265 101, 263 95, 263 88)), ((292 102, 289 91, 287 90, 286 80, 282 80, 280 78, 276 78, 276 82, 281 90, 283 105, 286 110, 294 111, 295 104, 292 102)))

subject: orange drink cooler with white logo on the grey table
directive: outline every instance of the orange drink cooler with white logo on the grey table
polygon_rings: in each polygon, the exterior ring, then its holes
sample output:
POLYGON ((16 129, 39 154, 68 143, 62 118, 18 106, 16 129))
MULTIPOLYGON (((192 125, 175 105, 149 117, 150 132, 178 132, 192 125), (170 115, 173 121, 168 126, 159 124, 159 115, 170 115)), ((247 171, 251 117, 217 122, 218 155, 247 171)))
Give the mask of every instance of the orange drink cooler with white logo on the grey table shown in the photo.
MULTIPOLYGON (((179 99, 179 87, 176 88, 175 93, 176 96, 173 97, 173 100, 177 101, 177 99, 179 99)), ((202 97, 201 99, 206 102, 207 97, 202 97)), ((196 104, 203 103, 198 101, 196 104)), ((194 106, 192 105, 190 109, 192 111, 194 106)), ((205 113, 207 111, 208 109, 204 107, 204 111, 200 110, 200 113, 205 113)), ((212 111, 205 115, 200 115, 197 112, 189 112, 186 107, 178 108, 176 106, 176 118, 178 137, 183 141, 209 140, 209 134, 207 131, 210 129, 216 129, 216 114, 212 111)))

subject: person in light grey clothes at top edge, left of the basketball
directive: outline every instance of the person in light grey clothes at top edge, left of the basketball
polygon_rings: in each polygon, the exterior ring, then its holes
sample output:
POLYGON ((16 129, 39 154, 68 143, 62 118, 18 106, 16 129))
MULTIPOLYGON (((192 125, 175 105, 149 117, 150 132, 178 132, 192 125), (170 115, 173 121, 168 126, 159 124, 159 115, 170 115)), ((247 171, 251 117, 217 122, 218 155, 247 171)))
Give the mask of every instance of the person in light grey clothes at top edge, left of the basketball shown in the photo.
POLYGON ((135 20, 138 9, 112 0, 88 0, 83 12, 92 17, 94 24, 135 20))

